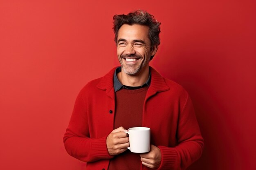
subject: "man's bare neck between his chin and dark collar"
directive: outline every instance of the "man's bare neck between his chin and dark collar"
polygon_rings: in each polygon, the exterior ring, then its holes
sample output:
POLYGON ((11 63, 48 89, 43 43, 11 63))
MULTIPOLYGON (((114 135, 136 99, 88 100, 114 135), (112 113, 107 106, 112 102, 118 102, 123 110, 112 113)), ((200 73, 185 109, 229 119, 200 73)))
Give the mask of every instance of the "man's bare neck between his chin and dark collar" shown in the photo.
POLYGON ((126 86, 142 86, 148 80, 149 67, 145 68, 144 71, 138 75, 128 75, 122 71, 117 74, 117 78, 121 84, 126 86))

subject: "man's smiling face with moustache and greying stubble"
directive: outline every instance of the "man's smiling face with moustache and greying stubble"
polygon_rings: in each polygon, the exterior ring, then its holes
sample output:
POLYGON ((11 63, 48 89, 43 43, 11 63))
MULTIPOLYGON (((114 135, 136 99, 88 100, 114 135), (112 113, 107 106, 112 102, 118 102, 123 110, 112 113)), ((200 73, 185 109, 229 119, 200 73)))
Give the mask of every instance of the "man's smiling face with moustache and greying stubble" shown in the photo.
POLYGON ((124 24, 118 31, 117 56, 123 71, 128 75, 139 75, 147 67, 151 55, 148 26, 124 24))

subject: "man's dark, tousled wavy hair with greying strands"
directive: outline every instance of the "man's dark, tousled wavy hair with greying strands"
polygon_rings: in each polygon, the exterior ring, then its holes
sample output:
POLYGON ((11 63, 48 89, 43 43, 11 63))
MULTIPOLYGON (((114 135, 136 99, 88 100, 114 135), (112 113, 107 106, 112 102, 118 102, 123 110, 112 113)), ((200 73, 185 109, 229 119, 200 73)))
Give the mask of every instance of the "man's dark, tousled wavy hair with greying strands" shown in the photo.
MULTIPOLYGON (((153 46, 159 46, 160 39, 159 39, 159 33, 160 33, 160 22, 158 22, 153 15, 150 13, 144 11, 144 10, 136 10, 134 12, 128 13, 127 15, 121 14, 121 15, 114 15, 114 33, 115 33, 115 42, 117 44, 117 36, 118 31, 121 28, 123 24, 133 25, 133 24, 139 24, 149 27, 149 33, 148 38, 150 39, 150 49, 153 49, 153 46)), ((151 56, 150 60, 152 60, 154 57, 151 56)))

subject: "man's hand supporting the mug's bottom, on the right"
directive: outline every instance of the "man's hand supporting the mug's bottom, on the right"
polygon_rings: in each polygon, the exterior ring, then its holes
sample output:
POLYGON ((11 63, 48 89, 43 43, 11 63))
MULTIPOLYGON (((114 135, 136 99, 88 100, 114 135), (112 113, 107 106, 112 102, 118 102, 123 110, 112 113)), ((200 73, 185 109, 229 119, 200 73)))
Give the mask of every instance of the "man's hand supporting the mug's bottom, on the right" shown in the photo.
POLYGON ((150 145, 148 153, 140 154, 142 164, 148 168, 156 169, 161 164, 161 150, 154 145, 150 145))

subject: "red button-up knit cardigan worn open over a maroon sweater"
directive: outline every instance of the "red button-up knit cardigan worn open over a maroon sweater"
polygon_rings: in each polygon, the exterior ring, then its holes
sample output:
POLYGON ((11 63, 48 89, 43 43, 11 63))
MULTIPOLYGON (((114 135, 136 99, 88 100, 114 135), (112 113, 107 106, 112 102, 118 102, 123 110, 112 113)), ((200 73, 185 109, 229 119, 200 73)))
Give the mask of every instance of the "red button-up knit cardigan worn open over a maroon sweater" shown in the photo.
MULTIPOLYGON (((67 152, 87 162, 87 170, 107 170, 112 158, 106 137, 114 127, 114 72, 115 68, 80 91, 63 138, 67 152)), ((158 170, 184 170, 201 156, 204 147, 193 104, 182 86, 153 68, 151 76, 142 125, 151 129, 151 144, 161 150, 158 170)), ((141 164, 141 170, 150 168, 141 164)))

